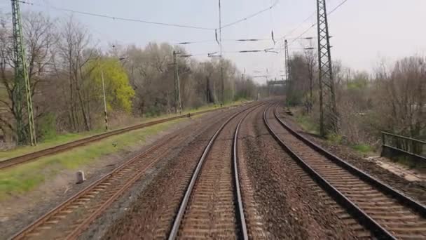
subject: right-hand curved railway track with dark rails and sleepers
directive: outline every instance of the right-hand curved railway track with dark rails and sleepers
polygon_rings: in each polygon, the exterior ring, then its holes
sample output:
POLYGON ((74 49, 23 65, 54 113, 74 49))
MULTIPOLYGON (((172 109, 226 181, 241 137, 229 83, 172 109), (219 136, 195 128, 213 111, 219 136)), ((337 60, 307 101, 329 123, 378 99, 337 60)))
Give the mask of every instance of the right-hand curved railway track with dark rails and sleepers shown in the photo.
POLYGON ((426 239, 426 208, 327 152, 289 127, 274 109, 263 121, 275 140, 353 218, 378 239, 426 239))

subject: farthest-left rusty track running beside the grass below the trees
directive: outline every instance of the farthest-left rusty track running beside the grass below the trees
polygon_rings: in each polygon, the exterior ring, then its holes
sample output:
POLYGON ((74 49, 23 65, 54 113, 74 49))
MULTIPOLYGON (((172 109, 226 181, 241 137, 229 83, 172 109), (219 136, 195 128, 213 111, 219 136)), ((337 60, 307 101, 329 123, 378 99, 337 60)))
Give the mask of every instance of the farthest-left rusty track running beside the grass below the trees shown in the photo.
POLYGON ((217 110, 218 109, 212 109, 212 110, 206 110, 206 111, 202 111, 202 112, 195 112, 191 115, 185 114, 185 115, 180 115, 180 116, 173 116, 173 117, 170 117, 170 118, 167 118, 167 119, 160 119, 160 120, 157 120, 157 121, 149 121, 149 122, 144 123, 144 124, 137 124, 135 126, 130 126, 130 127, 126 127, 126 128, 117 129, 117 130, 114 130, 114 131, 109 131, 107 133, 101 133, 101 134, 98 134, 98 135, 93 135, 93 136, 90 136, 88 138, 83 138, 83 139, 76 140, 76 141, 73 141, 73 142, 67 142, 67 143, 64 143, 62 145, 57 145, 55 147, 49 147, 49 148, 46 148, 46 149, 42 149, 42 150, 39 150, 37 152, 32 152, 32 153, 24 154, 24 155, 21 155, 21 156, 15 156, 11 159, 6 159, 4 161, 0 161, 0 170, 4 169, 4 168, 10 168, 10 167, 16 166, 18 164, 23 164, 27 161, 33 161, 35 159, 41 158, 42 156, 57 154, 57 153, 60 153, 60 152, 68 151, 70 149, 74 149, 74 147, 80 147, 80 146, 83 146, 83 145, 88 145, 92 142, 96 142, 96 141, 102 140, 104 138, 109 138, 113 135, 119 135, 119 134, 126 133, 126 132, 129 132, 129 131, 137 130, 137 129, 140 129, 140 128, 146 128, 146 127, 153 126, 153 125, 156 125, 156 124, 163 124, 167 121, 182 119, 182 118, 186 118, 188 116, 206 114, 208 112, 214 112, 214 111, 217 111, 217 110))

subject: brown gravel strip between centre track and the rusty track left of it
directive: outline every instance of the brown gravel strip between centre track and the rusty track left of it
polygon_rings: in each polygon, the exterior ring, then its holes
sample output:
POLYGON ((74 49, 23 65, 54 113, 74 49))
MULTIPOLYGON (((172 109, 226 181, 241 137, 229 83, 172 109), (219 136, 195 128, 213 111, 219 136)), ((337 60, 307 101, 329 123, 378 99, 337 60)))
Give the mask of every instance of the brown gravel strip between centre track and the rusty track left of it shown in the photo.
POLYGON ((191 129, 196 136, 176 149, 177 154, 167 159, 165 166, 139 190, 139 196, 128 210, 118 215, 102 236, 97 236, 102 239, 165 239, 203 149, 217 128, 235 111, 227 112, 214 123, 205 123, 202 129, 191 129))

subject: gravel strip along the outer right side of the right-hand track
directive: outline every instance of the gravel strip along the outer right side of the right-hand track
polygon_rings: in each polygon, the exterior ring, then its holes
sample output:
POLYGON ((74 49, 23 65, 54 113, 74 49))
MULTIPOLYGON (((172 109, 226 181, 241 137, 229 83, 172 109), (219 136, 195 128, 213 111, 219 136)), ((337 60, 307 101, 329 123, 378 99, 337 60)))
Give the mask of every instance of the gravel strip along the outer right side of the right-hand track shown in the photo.
POLYGON ((294 118, 285 114, 284 110, 280 108, 280 118, 285 120, 290 124, 291 128, 298 131, 298 133, 303 133, 305 137, 313 142, 319 144, 325 149, 333 152, 336 156, 341 159, 345 159, 348 163, 356 166, 357 168, 369 173, 369 175, 377 178, 383 183, 390 185, 392 188, 399 190, 400 192, 410 196, 412 199, 419 201, 421 204, 426 204, 426 186, 422 182, 410 182, 404 178, 401 178, 399 175, 396 175, 390 171, 387 171, 384 168, 381 168, 377 164, 372 163, 371 161, 366 161, 365 159, 357 154, 354 150, 343 145, 332 144, 321 138, 315 137, 311 134, 305 133, 300 126, 294 121, 294 118))

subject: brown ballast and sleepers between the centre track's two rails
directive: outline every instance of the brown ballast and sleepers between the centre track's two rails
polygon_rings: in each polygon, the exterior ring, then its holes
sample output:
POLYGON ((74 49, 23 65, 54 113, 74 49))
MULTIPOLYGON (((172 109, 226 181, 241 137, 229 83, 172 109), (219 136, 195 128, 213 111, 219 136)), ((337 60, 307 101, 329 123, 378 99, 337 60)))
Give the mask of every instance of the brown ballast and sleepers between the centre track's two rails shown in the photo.
POLYGON ((233 134, 243 114, 226 124, 214 141, 195 181, 179 227, 179 238, 237 239, 240 236, 231 159, 233 134))

